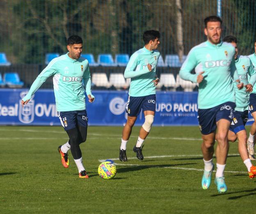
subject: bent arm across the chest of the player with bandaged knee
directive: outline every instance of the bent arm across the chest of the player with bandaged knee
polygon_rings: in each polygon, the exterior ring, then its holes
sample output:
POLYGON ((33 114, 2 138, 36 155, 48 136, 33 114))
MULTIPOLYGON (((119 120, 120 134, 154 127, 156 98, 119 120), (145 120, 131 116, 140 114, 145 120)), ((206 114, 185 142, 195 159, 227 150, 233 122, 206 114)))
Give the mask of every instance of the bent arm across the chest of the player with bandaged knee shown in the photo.
POLYGON ((137 60, 138 54, 135 53, 130 57, 130 60, 126 66, 126 69, 124 71, 124 78, 134 78, 137 76, 141 76, 142 74, 146 74, 148 72, 151 72, 152 66, 148 64, 145 66, 142 70, 135 71, 138 65, 138 60, 137 60))

